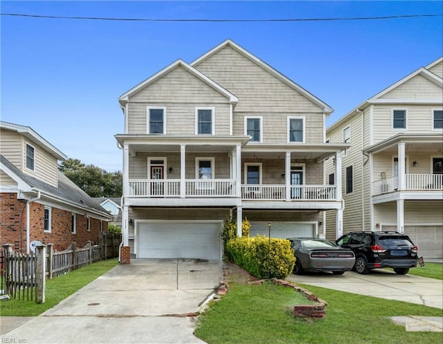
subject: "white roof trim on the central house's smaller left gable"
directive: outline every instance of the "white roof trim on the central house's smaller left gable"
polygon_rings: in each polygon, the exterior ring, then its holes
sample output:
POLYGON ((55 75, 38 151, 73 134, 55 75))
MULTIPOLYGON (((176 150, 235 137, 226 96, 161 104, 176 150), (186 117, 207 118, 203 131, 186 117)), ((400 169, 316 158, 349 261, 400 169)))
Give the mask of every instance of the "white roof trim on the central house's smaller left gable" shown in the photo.
POLYGON ((129 89, 129 91, 122 94, 118 98, 118 101, 120 102, 120 104, 123 104, 123 103, 129 101, 130 96, 141 91, 141 89, 143 89, 147 85, 154 83, 154 81, 165 76, 165 74, 168 74, 170 71, 172 71, 173 69, 175 69, 177 67, 182 67, 183 69, 188 71, 190 74, 196 76, 197 78, 202 80, 204 83, 206 83, 210 87, 213 87, 213 89, 215 89, 217 92, 219 92, 220 94, 222 94, 223 96, 228 98, 230 103, 237 103, 238 102, 238 98, 234 94, 230 93, 227 89, 224 89, 219 84, 215 83, 215 81, 211 80, 206 75, 201 73, 201 71, 198 71, 194 67, 191 67, 190 65, 188 65, 188 63, 184 62, 181 59, 179 59, 179 60, 173 62, 172 64, 170 64, 169 66, 161 69, 161 71, 157 72, 153 76, 150 76, 150 78, 147 78, 146 80, 142 81, 141 83, 139 83, 135 87, 132 87, 132 89, 129 89))

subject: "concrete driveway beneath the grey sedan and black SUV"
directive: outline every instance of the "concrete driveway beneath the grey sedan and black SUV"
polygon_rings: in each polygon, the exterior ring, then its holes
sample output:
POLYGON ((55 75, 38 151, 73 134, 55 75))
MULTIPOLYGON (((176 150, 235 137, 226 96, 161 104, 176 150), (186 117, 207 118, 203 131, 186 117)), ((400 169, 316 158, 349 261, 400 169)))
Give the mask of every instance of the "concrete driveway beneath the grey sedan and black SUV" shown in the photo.
POLYGON ((348 271, 344 275, 290 275, 287 279, 311 286, 443 309, 443 282, 440 279, 397 275, 384 269, 371 270, 368 275, 348 271))

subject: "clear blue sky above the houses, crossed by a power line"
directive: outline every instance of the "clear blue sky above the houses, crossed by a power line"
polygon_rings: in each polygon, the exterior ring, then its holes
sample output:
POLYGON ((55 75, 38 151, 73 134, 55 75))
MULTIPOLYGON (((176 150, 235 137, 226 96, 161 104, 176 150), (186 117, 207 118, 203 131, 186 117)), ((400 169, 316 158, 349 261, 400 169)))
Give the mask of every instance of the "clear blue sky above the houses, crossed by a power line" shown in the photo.
MULTIPOLYGON (((152 19, 442 14, 442 1, 1 1, 2 13, 152 19)), ((1 16, 1 120, 68 157, 122 169, 118 96, 230 38, 334 108, 327 125, 442 55, 442 17, 119 22, 1 16)))

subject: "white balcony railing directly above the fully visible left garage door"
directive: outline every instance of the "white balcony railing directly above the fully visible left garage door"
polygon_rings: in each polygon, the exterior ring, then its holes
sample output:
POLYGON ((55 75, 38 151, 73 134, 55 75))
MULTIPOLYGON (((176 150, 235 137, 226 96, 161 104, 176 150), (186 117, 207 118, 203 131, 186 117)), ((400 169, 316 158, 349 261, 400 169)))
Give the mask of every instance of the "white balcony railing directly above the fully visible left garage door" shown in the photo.
MULTIPOLYGON (((235 180, 210 179, 185 182, 185 197, 233 197, 235 180)), ((143 179, 129 180, 129 196, 132 197, 181 197, 181 180, 179 179, 143 179)))

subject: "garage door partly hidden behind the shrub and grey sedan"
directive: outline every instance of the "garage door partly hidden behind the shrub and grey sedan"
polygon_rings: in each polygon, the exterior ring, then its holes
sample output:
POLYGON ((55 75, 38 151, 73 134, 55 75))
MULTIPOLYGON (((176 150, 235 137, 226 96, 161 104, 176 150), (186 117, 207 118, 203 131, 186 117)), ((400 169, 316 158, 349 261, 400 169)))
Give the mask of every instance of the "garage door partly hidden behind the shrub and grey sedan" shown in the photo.
MULTIPOLYGON (((251 236, 258 234, 268 236, 269 225, 267 222, 251 222, 251 236)), ((271 223, 271 238, 296 238, 314 237, 314 223, 302 222, 273 222, 271 223)))

